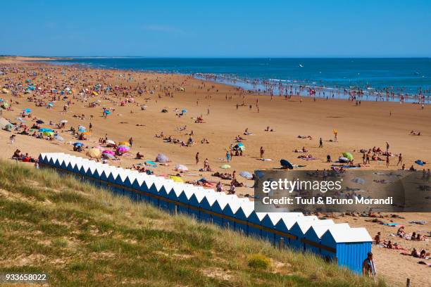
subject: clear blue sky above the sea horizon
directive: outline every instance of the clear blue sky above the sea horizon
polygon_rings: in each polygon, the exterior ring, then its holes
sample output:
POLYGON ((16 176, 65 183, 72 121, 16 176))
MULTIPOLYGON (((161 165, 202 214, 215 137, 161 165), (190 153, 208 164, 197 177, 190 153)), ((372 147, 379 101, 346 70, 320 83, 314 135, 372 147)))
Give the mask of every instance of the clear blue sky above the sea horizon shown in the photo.
POLYGON ((2 1, 0 54, 431 56, 431 1, 2 1))

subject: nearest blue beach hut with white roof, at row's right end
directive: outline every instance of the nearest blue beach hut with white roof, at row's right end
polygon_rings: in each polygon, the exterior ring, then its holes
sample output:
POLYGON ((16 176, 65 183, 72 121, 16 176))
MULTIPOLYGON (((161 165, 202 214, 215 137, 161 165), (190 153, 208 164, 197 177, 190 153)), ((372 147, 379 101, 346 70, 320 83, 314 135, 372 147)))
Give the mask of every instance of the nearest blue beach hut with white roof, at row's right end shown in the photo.
POLYGON ((365 228, 328 229, 321 238, 323 257, 337 260, 339 266, 344 266, 361 274, 362 262, 371 251, 373 239, 365 228))

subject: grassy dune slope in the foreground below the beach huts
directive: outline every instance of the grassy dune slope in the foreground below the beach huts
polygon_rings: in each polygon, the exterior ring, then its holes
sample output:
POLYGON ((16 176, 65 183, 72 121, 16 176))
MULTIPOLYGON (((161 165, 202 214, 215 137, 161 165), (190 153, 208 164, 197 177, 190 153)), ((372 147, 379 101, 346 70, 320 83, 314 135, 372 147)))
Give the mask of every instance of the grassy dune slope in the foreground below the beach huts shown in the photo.
POLYGON ((0 161, 0 273, 50 286, 386 286, 108 191, 0 161))

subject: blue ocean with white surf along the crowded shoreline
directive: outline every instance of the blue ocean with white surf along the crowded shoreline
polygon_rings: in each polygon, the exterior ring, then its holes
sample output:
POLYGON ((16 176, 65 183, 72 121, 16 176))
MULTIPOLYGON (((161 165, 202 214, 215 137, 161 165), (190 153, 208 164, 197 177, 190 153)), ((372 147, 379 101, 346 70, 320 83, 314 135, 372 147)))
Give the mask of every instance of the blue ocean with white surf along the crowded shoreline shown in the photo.
MULTIPOLYGON (((325 87, 318 89, 316 96, 342 97, 334 91, 358 90, 371 96, 365 100, 399 101, 397 95, 407 94, 409 101, 422 95, 425 103, 431 96, 431 58, 79 57, 55 63, 193 74, 267 94, 283 94, 285 87, 293 91, 292 86, 301 85, 325 87), (392 92, 395 97, 390 96, 392 92)), ((305 94, 304 89, 301 93, 305 94)))

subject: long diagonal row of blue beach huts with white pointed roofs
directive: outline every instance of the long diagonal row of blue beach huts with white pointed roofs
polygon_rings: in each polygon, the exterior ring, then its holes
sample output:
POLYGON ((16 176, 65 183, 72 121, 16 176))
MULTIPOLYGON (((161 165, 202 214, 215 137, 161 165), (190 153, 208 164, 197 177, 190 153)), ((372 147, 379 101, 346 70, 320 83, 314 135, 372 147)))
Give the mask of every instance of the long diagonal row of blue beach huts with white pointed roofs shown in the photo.
POLYGON ((362 262, 371 251, 372 239, 365 228, 351 228, 346 223, 336 224, 301 212, 256 212, 249 198, 65 153, 41 153, 39 166, 73 174, 117 195, 151 203, 171 213, 187 214, 284 248, 315 253, 356 273, 361 272, 362 262))

